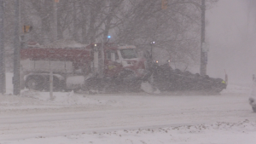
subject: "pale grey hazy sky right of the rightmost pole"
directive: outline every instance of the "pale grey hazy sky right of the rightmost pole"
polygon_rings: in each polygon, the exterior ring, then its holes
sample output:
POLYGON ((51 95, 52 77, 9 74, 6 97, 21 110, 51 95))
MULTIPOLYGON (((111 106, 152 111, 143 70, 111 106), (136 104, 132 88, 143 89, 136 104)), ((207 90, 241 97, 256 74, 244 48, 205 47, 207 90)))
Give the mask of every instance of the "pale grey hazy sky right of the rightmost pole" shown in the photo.
MULTIPOLYGON (((249 0, 248 0, 249 1, 249 0)), ((207 74, 230 83, 248 84, 256 74, 255 11, 247 0, 219 0, 207 10, 207 41, 210 43, 207 74)))

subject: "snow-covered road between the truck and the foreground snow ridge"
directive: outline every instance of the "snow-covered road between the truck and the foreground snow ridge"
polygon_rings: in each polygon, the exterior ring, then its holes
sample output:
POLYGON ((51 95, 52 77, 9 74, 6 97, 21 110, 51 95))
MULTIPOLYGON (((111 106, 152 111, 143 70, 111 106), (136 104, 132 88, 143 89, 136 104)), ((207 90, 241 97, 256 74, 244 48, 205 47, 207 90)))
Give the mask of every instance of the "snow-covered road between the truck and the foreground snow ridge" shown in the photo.
POLYGON ((0 102, 0 141, 20 143, 19 140, 38 137, 218 122, 256 124, 247 93, 241 92, 241 88, 239 91, 226 90, 222 95, 55 93, 54 101, 49 100, 48 93, 25 91, 21 96, 4 95, 0 102))

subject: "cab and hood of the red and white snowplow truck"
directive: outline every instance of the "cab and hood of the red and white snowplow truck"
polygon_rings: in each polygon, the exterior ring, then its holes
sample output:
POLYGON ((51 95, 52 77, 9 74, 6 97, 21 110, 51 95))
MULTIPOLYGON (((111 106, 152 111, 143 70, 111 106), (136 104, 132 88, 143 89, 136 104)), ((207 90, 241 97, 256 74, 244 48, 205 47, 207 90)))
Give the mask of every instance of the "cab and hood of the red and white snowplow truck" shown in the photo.
MULTIPOLYGON (((101 49, 101 43, 95 44, 101 49)), ((125 78, 129 74, 132 78, 143 78, 146 74, 147 62, 138 58, 137 48, 133 45, 106 44, 104 51, 104 77, 125 78)), ((96 61, 96 60, 95 60, 96 61)))

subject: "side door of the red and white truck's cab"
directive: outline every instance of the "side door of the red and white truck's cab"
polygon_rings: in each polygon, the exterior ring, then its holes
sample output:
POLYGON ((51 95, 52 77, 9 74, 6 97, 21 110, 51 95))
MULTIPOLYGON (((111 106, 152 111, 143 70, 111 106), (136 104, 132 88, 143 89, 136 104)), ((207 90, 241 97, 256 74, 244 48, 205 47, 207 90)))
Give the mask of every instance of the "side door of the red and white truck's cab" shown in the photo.
POLYGON ((105 77, 117 78, 122 68, 122 65, 119 60, 119 55, 116 50, 106 50, 105 54, 105 77))

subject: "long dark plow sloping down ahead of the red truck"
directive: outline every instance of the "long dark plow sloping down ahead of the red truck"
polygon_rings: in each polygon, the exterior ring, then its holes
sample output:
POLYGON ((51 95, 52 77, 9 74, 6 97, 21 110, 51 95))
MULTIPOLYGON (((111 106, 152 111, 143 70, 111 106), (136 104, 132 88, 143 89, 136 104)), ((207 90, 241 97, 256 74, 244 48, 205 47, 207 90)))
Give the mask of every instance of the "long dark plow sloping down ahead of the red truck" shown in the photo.
POLYGON ((170 60, 160 65, 157 60, 151 64, 154 86, 160 91, 201 91, 204 94, 219 94, 227 84, 221 78, 201 76, 199 73, 172 69, 170 60))

